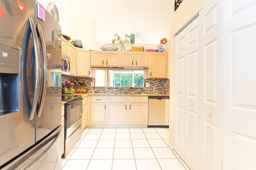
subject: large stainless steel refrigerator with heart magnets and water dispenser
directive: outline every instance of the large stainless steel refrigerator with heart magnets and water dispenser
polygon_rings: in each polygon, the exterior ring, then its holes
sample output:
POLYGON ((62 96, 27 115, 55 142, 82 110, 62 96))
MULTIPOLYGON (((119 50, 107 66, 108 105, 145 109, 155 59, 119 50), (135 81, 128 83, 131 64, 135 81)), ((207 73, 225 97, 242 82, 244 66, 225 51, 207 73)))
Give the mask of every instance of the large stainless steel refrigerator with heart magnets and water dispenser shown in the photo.
POLYGON ((61 27, 34 0, 0 0, 0 169, 61 169, 61 27))

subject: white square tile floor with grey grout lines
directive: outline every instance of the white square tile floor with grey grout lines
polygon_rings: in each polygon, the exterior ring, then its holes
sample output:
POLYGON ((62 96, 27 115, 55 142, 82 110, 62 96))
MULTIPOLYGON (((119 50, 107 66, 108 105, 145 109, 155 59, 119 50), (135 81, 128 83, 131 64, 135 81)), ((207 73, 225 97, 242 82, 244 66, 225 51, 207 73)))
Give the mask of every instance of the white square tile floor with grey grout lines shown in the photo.
POLYGON ((189 170, 168 147, 168 128, 86 128, 62 170, 189 170))

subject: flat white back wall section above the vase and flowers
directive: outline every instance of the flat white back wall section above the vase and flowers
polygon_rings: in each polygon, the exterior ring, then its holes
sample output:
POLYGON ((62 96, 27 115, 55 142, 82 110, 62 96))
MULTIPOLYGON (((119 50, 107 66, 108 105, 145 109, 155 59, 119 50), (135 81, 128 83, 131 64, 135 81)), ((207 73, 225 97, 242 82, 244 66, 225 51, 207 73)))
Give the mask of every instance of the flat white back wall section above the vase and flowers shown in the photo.
POLYGON ((97 0, 96 41, 111 42, 114 34, 135 36, 136 43, 170 38, 169 0, 97 0))

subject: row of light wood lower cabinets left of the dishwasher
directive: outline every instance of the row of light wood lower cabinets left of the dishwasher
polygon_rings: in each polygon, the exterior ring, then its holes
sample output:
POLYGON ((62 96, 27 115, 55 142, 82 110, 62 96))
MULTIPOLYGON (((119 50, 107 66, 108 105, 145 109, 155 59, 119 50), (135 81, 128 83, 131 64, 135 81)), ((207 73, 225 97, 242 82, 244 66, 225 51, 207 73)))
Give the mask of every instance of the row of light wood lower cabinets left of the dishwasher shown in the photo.
POLYGON ((87 125, 148 125, 147 96, 91 96, 88 101, 87 125))

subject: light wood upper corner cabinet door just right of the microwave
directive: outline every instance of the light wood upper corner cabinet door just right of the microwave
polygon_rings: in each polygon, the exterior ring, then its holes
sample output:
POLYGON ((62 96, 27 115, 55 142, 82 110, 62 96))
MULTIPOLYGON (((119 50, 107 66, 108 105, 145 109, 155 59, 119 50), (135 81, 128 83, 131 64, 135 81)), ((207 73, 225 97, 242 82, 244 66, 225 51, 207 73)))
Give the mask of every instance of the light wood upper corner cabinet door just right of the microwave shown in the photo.
POLYGON ((82 48, 76 49, 76 75, 90 77, 90 51, 82 48))

